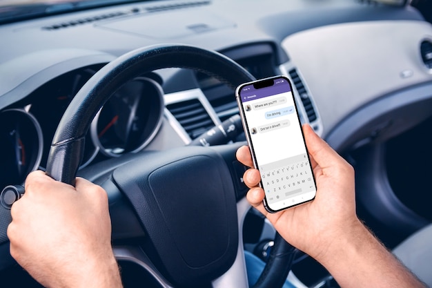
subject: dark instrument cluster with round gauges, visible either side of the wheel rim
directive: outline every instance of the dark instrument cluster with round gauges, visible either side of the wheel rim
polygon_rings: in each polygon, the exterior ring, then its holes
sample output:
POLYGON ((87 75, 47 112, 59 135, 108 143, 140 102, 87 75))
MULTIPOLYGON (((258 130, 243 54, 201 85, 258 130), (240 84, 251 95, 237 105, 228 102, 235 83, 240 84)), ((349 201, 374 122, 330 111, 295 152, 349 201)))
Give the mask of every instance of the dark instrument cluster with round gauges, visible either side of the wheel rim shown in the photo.
MULTIPOLYGON (((65 73, 0 111, 1 187, 23 184, 28 173, 46 168, 57 124, 72 98, 99 68, 65 73)), ((112 91, 87 132, 80 168, 136 153, 153 140, 164 111, 164 92, 157 80, 143 75, 112 91)))

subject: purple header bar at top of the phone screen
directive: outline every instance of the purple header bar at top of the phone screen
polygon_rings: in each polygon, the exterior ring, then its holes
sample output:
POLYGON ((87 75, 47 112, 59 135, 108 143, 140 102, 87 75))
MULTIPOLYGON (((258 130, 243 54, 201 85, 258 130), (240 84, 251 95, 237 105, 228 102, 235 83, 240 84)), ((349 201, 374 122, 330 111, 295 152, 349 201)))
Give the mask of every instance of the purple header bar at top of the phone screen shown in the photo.
POLYGON ((286 93, 291 91, 291 87, 286 79, 275 79, 273 86, 255 89, 253 84, 244 86, 240 91, 242 102, 248 102, 272 95, 286 93))

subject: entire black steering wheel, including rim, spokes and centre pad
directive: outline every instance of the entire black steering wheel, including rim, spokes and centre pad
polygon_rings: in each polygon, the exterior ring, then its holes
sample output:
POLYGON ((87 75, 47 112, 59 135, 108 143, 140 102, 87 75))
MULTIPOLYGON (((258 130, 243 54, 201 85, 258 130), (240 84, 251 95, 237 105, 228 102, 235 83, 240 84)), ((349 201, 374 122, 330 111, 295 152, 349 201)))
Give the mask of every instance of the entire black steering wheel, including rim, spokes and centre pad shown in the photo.
MULTIPOLYGON (((197 70, 232 88, 254 79, 224 55, 194 46, 128 52, 101 68, 74 97, 59 122, 46 173, 75 184, 84 138, 99 109, 126 81, 161 68, 197 70)), ((117 260, 144 267, 161 287, 248 287, 241 231, 249 206, 238 189, 239 146, 138 153, 90 173, 109 196, 117 260)), ((277 235, 254 287, 282 287, 292 260, 293 247, 277 235)))

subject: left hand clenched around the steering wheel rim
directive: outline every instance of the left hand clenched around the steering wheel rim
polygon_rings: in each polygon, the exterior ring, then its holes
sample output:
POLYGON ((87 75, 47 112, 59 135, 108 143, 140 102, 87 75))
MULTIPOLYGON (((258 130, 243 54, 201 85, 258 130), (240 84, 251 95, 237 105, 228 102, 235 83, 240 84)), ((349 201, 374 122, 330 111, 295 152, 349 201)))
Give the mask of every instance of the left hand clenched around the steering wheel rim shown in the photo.
POLYGON ((11 209, 12 257, 46 287, 121 287, 106 191, 82 178, 74 188, 42 171, 28 175, 25 190, 11 209))

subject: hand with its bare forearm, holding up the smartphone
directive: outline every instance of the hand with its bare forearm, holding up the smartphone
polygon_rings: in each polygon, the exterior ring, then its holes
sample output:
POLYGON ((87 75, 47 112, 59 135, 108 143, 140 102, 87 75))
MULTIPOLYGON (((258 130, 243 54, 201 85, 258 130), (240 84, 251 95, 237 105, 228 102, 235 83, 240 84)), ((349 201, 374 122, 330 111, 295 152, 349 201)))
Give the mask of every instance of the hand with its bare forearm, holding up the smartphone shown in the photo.
MULTIPOLYGON (((268 213, 264 191, 257 186, 259 171, 249 169, 244 182, 251 205, 286 241, 324 265, 341 287, 424 287, 357 218, 353 167, 310 126, 303 131, 317 182, 315 200, 268 213)), ((237 160, 253 166, 247 146, 237 150, 237 160)))

